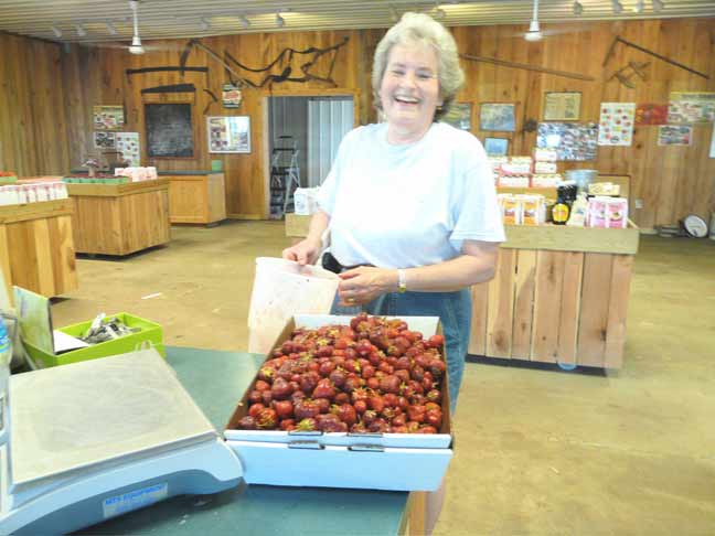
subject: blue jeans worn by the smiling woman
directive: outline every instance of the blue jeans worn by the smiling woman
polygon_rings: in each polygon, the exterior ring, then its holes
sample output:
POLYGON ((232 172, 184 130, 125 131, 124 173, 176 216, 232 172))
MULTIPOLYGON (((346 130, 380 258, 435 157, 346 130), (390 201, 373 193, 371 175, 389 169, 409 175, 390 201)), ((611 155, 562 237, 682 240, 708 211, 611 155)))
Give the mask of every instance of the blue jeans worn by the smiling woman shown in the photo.
POLYGON ((354 315, 361 311, 381 317, 439 317, 447 345, 450 410, 457 407, 457 396, 465 373, 465 357, 471 326, 471 293, 469 289, 455 292, 391 292, 363 307, 338 307, 333 314, 354 315))

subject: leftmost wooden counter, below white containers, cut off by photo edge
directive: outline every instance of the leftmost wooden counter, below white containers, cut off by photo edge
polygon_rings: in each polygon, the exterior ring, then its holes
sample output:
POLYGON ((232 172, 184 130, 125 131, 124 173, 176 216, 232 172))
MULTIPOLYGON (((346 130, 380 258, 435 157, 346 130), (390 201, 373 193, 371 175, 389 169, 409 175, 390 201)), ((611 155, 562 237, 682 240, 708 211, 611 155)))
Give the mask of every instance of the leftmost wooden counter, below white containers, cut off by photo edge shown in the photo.
POLYGON ((0 268, 12 285, 46 297, 77 288, 72 200, 0 206, 0 268))

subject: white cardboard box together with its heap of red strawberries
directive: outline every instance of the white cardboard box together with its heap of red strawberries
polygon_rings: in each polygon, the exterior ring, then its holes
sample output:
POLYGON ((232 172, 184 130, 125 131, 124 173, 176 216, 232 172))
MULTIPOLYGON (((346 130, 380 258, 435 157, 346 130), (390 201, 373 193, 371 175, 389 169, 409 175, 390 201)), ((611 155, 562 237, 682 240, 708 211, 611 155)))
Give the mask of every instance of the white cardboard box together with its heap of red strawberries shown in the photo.
POLYGON ((436 490, 452 455, 439 319, 295 317, 224 437, 248 483, 436 490))

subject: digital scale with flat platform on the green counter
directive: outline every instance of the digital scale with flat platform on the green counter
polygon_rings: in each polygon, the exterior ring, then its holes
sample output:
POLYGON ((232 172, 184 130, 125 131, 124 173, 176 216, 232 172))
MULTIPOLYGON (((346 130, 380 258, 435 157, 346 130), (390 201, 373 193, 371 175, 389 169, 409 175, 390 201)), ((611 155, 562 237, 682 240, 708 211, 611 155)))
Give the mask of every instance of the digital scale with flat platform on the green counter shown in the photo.
POLYGON ((12 375, 0 397, 0 534, 68 533, 242 483, 154 350, 12 375))

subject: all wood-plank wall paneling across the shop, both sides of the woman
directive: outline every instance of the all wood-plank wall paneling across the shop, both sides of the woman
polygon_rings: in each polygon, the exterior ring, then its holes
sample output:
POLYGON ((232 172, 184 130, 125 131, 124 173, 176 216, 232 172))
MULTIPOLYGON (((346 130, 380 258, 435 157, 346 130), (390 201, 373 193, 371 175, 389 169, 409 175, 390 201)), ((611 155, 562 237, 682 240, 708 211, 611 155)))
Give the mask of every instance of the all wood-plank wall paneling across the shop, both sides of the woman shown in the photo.
MULTIPOLYGON (((546 25, 546 30, 559 29, 546 25)), ((569 26, 574 29, 574 26, 569 26)), ((471 55, 497 57, 499 60, 532 64, 535 66, 577 72, 593 76, 595 82, 575 81, 549 74, 541 74, 485 63, 463 61, 467 85, 458 97, 459 101, 472 103, 472 128, 474 135, 483 139, 485 135, 503 137, 504 133, 480 132, 479 104, 484 101, 517 103, 516 132, 506 135, 511 139, 511 154, 529 154, 535 146, 535 133, 522 130, 525 119, 542 118, 545 92, 581 92, 581 120, 598 121, 601 101, 668 103, 669 94, 679 92, 715 92, 715 20, 649 20, 587 23, 580 31, 549 35, 540 43, 526 43, 519 36, 522 26, 462 26, 453 29, 460 52, 471 55), (669 65, 633 49, 619 44, 616 53, 604 67, 604 58, 616 35, 638 43, 659 54, 669 56, 697 71, 707 73, 706 81, 679 67, 669 65), (623 87, 617 81, 609 81, 611 74, 629 61, 650 62, 648 79, 634 79, 636 88, 623 87)), ((55 106, 43 98, 31 104, 30 95, 10 107, 14 122, 8 128, 0 126, 0 141, 7 147, 12 139, 10 130, 19 122, 30 125, 29 130, 38 132, 29 139, 25 132, 24 146, 11 149, 12 154, 0 154, 3 162, 14 163, 18 159, 29 158, 24 168, 14 165, 22 174, 55 171, 53 165, 81 163, 82 158, 94 151, 92 148, 92 106, 124 104, 127 111, 127 128, 138 131, 143 140, 143 117, 141 89, 151 86, 193 83, 196 86, 194 124, 196 148, 195 158, 186 160, 143 160, 163 170, 210 169, 211 160, 223 160, 226 178, 226 208, 230 217, 267 217, 267 169, 264 125, 267 110, 265 98, 269 95, 346 94, 353 95, 356 103, 359 122, 370 122, 375 118, 372 109, 370 71, 372 55, 384 30, 335 31, 243 34, 202 40, 215 51, 228 51, 242 63, 258 67, 268 64, 287 46, 302 50, 309 46, 329 46, 349 36, 349 43, 338 53, 333 72, 337 87, 320 82, 307 84, 275 84, 273 88, 246 89, 244 103, 237 110, 223 109, 221 104, 211 104, 211 97, 203 89, 221 95, 221 86, 227 79, 223 67, 200 50, 191 53, 189 65, 209 66, 209 76, 188 73, 181 77, 177 73, 140 74, 128 77, 129 67, 150 67, 178 65, 185 40, 163 41, 163 51, 151 52, 143 56, 132 56, 124 50, 73 46, 70 53, 45 43, 35 44, 31 40, 0 37, 1 57, 11 57, 14 67, 4 67, 10 84, 29 81, 31 71, 56 73, 49 79, 47 97, 64 103, 55 106), (20 44, 19 44, 20 43, 20 44), (8 49, 10 47, 10 49, 8 49), (38 49, 47 49, 52 60, 41 58, 33 63, 38 49), (10 54, 7 54, 7 51, 10 54), (60 54, 61 73, 56 65, 60 54), (20 60, 22 58, 22 60, 20 60), (14 82, 12 82, 14 81, 14 82), (52 89, 50 92, 49 89, 52 89), (35 111, 41 107, 44 114, 35 111), (50 109, 52 114, 47 114, 50 109), (209 154, 206 150, 205 115, 248 115, 252 120, 250 154, 209 154), (45 119, 44 117, 50 116, 45 119), (62 122, 64 121, 64 125, 62 122), (51 127, 64 126, 68 139, 68 157, 62 137, 47 133, 51 127), (52 138, 54 147, 34 147, 34 139, 46 143, 52 138), (52 151, 49 157, 45 151, 52 151), (32 157, 28 157, 33 152, 32 157), (64 160, 63 160, 64 158, 64 160), (4 159, 4 160, 3 160, 4 159), (9 160, 11 159, 11 160, 9 160), (53 161, 49 161, 53 160, 53 161), (55 162, 57 161, 57 162, 55 162), (28 171, 25 171, 28 170, 28 171)), ((292 63, 294 73, 300 72, 300 56, 292 63)), ((328 57, 321 62, 327 64, 328 57)), ((276 68, 274 74, 278 74, 276 68)), ((249 75, 260 79, 260 74, 249 75)), ((34 77, 32 77, 34 81, 34 77)), ((7 93, 7 82, 0 92, 7 93)), ((24 82, 25 85, 29 82, 24 82)), ((13 86, 13 87, 14 87, 13 86)), ((22 95, 22 92, 20 92, 22 95)), ((156 97, 154 97, 156 98, 156 97)), ((4 99, 3 99, 4 100, 4 99)), ((49 99, 47 99, 49 100, 49 99)), ((0 103, 0 110, 8 109, 0 103)), ((658 127, 636 129, 632 147, 598 148, 595 162, 566 163, 564 168, 597 168, 602 173, 631 175, 631 196, 642 200, 643 207, 632 213, 632 218, 644 228, 671 224, 689 213, 708 217, 715 210, 715 159, 708 158, 708 147, 713 126, 695 126, 694 140, 690 147, 659 147, 658 127)), ((4 149, 7 153, 7 148, 4 149)), ((6 167, 11 167, 4 163, 6 167)), ((66 168, 66 165, 65 165, 66 168)))

